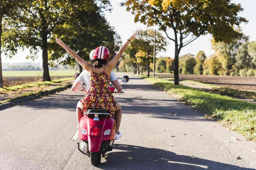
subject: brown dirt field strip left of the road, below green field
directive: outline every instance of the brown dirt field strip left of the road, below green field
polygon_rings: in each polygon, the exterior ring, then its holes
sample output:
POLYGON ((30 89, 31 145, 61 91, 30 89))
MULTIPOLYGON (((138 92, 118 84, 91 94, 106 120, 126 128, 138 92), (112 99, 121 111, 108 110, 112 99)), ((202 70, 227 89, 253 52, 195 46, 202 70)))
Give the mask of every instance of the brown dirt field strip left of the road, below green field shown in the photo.
MULTIPOLYGON (((63 78, 68 78, 70 76, 52 76, 52 80, 56 79, 63 79, 63 78)), ((32 83, 36 81, 40 81, 42 77, 40 76, 35 76, 35 77, 3 77, 3 86, 4 87, 9 87, 9 86, 16 86, 16 85, 21 85, 21 84, 26 84, 26 83, 32 83)))

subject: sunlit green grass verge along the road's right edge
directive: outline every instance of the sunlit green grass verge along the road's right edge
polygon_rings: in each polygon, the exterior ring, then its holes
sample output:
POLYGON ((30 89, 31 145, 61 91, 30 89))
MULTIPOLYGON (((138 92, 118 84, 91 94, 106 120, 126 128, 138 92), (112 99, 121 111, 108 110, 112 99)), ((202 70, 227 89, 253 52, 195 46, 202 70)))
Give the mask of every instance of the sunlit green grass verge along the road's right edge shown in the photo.
POLYGON ((181 100, 199 109, 208 116, 214 116, 231 130, 243 134, 248 140, 256 141, 256 105, 228 96, 200 91, 184 85, 175 86, 163 79, 140 76, 154 86, 174 94, 181 100))

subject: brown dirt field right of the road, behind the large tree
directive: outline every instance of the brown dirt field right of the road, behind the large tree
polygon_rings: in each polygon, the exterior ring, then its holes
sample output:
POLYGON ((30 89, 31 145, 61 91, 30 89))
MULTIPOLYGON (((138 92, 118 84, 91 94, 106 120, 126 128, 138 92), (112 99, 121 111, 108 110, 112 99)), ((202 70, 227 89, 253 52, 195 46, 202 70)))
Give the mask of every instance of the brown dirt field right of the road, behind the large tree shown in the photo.
MULTIPOLYGON (((173 78, 173 74, 158 73, 157 76, 173 78)), ((238 76, 213 76, 213 75, 192 75, 180 74, 180 81, 193 80, 201 83, 213 84, 216 86, 229 87, 237 90, 255 91, 256 77, 238 77, 238 76)))

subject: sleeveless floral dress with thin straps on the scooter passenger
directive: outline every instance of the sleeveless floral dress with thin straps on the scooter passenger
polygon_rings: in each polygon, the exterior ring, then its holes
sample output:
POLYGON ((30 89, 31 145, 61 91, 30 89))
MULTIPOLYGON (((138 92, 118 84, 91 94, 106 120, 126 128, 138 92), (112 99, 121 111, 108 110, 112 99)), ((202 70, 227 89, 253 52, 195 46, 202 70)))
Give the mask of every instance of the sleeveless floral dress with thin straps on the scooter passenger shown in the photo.
POLYGON ((87 90, 83 99, 80 100, 82 111, 89 108, 102 108, 107 109, 110 114, 115 113, 117 103, 109 89, 109 83, 110 76, 104 71, 100 73, 93 72, 90 75, 91 87, 87 90))

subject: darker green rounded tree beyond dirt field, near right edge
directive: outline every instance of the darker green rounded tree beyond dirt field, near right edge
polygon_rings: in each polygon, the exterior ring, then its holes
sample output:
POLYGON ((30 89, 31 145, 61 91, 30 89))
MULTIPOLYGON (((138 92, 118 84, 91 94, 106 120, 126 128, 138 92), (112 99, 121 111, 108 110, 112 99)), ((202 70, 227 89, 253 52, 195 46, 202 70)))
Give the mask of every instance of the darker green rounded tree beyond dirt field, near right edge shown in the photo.
POLYGON ((252 63, 253 57, 248 53, 248 45, 249 42, 243 43, 238 49, 236 56, 236 67, 238 69, 245 69, 246 71, 255 66, 252 63))

